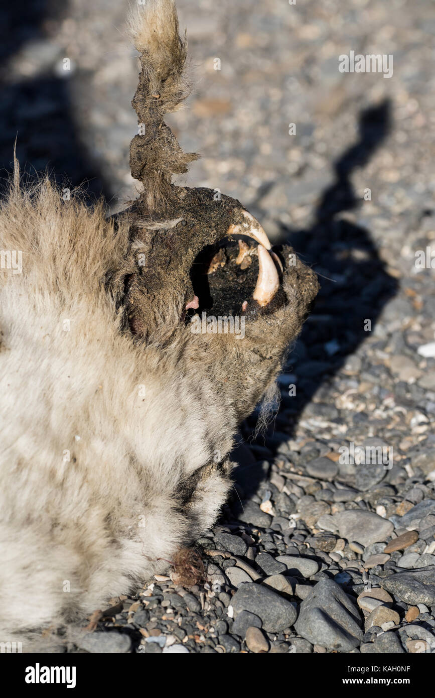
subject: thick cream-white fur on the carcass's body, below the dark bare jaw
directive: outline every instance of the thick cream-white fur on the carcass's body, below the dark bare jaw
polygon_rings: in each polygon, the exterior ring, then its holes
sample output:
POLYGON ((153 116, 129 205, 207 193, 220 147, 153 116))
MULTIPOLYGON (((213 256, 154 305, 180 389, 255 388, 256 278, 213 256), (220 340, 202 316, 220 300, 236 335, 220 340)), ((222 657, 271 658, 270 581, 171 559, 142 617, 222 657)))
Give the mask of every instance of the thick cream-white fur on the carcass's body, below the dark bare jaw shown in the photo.
POLYGON ((0 249, 23 258, 22 274, 0 270, 0 641, 165 570, 227 494, 213 453, 231 447, 231 407, 194 380, 176 309, 169 341, 122 331, 103 281, 127 248, 102 207, 48 182, 13 188, 0 211, 0 249), (206 464, 180 507, 177 488, 206 464))

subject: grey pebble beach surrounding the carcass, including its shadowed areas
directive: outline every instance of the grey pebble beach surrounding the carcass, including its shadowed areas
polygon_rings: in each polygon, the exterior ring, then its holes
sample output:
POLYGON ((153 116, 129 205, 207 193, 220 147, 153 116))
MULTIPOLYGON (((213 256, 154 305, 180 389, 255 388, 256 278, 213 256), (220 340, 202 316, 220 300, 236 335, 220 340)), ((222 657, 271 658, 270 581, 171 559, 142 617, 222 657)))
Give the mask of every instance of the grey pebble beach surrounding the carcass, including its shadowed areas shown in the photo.
MULTIPOLYGON (((0 158, 112 211, 135 197, 128 3, 47 2, 1 52, 0 158), (70 63, 64 70, 65 59, 70 63)), ((266 433, 195 548, 204 584, 144 579, 73 652, 435 652, 434 29, 429 0, 178 0, 194 91, 167 119, 189 186, 243 202, 321 291, 266 433), (392 56, 392 75, 339 56, 392 56)), ((22 10, 20 10, 22 14, 22 10)), ((89 623, 84 619, 83 625, 89 623)))

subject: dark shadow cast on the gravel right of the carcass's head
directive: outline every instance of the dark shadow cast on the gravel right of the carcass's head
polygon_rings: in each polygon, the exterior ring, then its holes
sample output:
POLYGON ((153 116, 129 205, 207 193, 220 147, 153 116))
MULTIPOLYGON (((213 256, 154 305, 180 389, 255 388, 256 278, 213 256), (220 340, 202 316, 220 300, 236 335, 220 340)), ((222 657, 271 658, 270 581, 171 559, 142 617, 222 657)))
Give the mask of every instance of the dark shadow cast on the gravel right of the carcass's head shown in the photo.
MULTIPOLYGON (((267 478, 268 468, 259 462, 264 443, 275 452, 285 440, 291 439, 296 422, 307 408, 310 416, 338 421, 335 407, 322 399, 312 403, 313 396, 356 351, 368 329, 374 329, 383 307, 397 292, 397 281, 386 271, 370 232, 346 218, 337 218, 341 211, 351 211, 360 205, 351 174, 369 161, 390 128, 388 101, 363 111, 358 142, 335 163, 335 181, 321 197, 312 228, 282 229, 282 239, 287 239, 303 262, 319 273, 321 290, 284 367, 284 373, 295 376, 296 394, 290 395, 290 391, 284 394, 265 440, 253 444, 257 464, 243 443, 251 438, 256 413, 242 425, 241 445, 232 456, 239 463, 234 471, 236 492, 230 502, 233 517, 237 518, 242 511, 241 500, 249 499, 267 478)), ((367 418, 365 413, 353 417, 359 422, 367 418)), ((267 457, 267 451, 264 454, 267 457)))

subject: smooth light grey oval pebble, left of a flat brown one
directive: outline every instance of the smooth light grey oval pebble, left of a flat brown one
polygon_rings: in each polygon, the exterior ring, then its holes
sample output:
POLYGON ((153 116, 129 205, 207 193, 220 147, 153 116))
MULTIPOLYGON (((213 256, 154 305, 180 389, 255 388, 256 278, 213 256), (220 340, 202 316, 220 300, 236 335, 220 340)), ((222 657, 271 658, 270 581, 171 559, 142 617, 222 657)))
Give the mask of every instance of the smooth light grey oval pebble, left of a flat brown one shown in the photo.
POLYGON ((334 514, 333 519, 339 535, 364 547, 386 540, 394 529, 391 521, 360 509, 339 512, 334 514))

